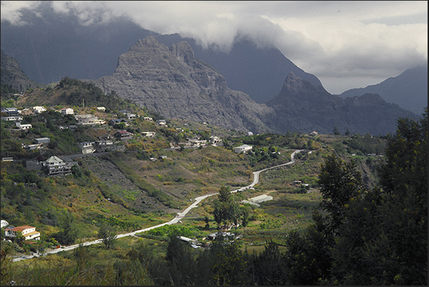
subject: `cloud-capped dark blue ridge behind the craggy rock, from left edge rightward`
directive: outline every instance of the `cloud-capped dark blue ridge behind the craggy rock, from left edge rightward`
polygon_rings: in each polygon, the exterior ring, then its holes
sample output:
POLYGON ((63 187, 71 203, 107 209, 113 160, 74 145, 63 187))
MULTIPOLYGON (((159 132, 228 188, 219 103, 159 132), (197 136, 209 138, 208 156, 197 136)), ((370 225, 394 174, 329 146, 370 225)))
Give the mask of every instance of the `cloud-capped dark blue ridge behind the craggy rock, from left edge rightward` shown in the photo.
POLYGON ((114 73, 117 58, 139 39, 157 36, 160 43, 171 46, 187 41, 196 58, 210 64, 225 78, 233 90, 265 103, 277 95, 287 74, 293 71, 314 85, 320 81, 289 61, 277 48, 258 48, 251 41, 235 43, 230 53, 198 46, 191 38, 178 34, 160 35, 145 30, 127 19, 82 26, 76 16, 58 14, 49 1, 42 1, 37 14, 23 9, 31 25, 1 23, 1 49, 21 63, 28 78, 38 83, 53 83, 65 76, 98 79, 114 73))

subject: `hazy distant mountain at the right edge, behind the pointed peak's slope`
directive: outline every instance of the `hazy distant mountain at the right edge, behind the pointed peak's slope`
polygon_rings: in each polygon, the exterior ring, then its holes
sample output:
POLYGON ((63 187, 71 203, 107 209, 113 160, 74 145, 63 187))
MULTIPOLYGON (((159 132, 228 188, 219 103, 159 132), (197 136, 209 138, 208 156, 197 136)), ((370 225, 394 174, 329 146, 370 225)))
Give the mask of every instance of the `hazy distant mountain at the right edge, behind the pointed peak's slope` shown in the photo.
POLYGON ((377 85, 346 90, 341 98, 376 93, 387 103, 396 103, 401 108, 420 115, 428 106, 428 65, 408 69, 396 77, 391 77, 377 85))

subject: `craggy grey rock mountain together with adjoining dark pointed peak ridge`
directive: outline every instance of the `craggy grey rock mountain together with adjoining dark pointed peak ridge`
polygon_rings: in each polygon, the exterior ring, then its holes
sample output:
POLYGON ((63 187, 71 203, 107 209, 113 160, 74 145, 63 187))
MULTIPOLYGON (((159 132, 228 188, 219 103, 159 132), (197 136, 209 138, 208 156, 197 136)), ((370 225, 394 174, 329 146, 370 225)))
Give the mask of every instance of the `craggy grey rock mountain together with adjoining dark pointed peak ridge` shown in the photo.
POLYGON ((416 115, 388 104, 379 95, 342 99, 290 72, 268 103, 228 87, 223 75, 199 61, 189 43, 167 47, 154 36, 123 53, 115 73, 89 80, 105 93, 115 90, 166 118, 189 118, 253 132, 394 132, 398 117, 416 115))

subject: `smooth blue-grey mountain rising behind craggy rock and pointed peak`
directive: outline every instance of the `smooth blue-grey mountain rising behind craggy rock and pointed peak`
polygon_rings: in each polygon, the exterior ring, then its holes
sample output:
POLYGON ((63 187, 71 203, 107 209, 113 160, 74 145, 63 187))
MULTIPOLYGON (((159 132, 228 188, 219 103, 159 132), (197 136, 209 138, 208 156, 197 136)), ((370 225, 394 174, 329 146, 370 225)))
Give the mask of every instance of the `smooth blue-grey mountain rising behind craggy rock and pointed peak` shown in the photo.
POLYGON ((194 39, 181 38, 178 34, 161 35, 157 39, 166 46, 187 41, 195 57, 221 73, 231 89, 250 95, 257 103, 266 103, 274 98, 290 72, 313 85, 322 85, 315 75, 304 72, 277 48, 258 48, 246 39, 234 43, 229 53, 201 48, 194 39))

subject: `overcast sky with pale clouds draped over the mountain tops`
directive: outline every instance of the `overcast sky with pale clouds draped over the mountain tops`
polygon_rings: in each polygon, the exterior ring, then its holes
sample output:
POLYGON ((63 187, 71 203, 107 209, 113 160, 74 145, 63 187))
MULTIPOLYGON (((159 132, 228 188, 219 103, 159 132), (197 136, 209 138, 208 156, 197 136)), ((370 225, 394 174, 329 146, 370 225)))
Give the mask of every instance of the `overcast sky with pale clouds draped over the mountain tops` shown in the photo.
MULTIPOLYGON (((26 25, 20 9, 41 1, 1 1, 1 22, 26 25)), ((89 26, 125 17, 157 33, 181 33, 228 52, 250 38, 275 46, 329 93, 381 83, 428 63, 428 1, 53 1, 89 26)), ((119 55, 118 55, 119 56, 119 55)))

